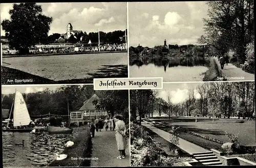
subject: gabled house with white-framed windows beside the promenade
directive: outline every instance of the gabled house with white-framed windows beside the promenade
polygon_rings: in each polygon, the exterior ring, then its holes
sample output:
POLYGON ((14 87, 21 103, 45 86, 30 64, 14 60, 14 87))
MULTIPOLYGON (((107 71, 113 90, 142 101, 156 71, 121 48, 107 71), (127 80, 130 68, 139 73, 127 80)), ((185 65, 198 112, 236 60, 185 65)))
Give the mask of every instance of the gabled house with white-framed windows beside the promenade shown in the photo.
POLYGON ((108 117, 108 111, 95 108, 95 105, 93 104, 94 100, 99 100, 99 97, 96 94, 85 101, 78 111, 70 112, 70 123, 75 123, 77 126, 81 126, 91 122, 96 119, 96 117, 102 119, 108 117))

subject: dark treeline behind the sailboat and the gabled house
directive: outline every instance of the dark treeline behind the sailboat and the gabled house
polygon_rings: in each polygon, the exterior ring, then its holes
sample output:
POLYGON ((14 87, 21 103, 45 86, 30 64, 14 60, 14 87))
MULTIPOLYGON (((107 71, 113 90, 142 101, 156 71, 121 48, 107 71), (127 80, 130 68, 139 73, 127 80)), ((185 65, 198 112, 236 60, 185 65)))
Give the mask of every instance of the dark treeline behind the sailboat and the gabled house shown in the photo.
MULTIPOLYGON (((68 115, 68 103, 69 111, 79 110, 83 102, 90 99, 94 93, 100 98, 95 102, 96 108, 106 109, 112 115, 122 114, 127 119, 129 103, 127 90, 94 91, 93 86, 90 85, 71 85, 61 86, 54 91, 47 88, 44 91, 23 94, 23 97, 32 118, 40 118, 40 115, 49 113, 68 115), (33 115, 38 116, 33 117, 33 115)), ((13 99, 14 93, 5 95, 2 109, 10 109, 13 99)))

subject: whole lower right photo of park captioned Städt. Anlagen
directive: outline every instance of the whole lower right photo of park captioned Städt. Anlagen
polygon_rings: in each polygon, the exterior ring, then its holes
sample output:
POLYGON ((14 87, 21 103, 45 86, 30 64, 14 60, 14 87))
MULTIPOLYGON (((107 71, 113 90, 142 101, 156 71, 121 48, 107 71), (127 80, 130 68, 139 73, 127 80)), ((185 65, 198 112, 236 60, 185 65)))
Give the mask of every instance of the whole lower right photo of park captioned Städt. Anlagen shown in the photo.
POLYGON ((130 90, 131 166, 256 165, 254 82, 130 90))

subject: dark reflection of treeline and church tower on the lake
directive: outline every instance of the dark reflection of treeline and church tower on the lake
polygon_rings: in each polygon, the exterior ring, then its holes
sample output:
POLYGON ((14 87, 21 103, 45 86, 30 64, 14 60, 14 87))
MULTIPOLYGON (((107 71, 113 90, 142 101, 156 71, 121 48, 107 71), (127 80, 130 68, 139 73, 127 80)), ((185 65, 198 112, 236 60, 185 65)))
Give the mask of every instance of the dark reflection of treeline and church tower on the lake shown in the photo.
POLYGON ((207 59, 204 57, 141 57, 130 58, 129 65, 137 65, 139 68, 142 65, 154 64, 157 67, 163 67, 166 72, 167 67, 175 66, 205 66, 207 59))

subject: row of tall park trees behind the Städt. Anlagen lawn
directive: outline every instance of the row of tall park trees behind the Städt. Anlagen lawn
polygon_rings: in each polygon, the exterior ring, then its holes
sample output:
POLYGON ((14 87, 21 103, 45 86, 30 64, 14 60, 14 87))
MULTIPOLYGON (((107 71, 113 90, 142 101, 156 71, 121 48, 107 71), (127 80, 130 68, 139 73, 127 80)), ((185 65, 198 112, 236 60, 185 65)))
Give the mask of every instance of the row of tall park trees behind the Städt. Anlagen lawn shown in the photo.
POLYGON ((204 83, 188 91, 188 98, 182 103, 173 103, 172 95, 166 100, 158 97, 156 90, 131 90, 131 116, 153 117, 154 113, 172 116, 214 116, 229 118, 237 116, 252 118, 255 111, 254 82, 204 83))

